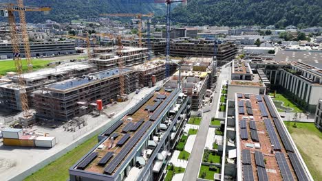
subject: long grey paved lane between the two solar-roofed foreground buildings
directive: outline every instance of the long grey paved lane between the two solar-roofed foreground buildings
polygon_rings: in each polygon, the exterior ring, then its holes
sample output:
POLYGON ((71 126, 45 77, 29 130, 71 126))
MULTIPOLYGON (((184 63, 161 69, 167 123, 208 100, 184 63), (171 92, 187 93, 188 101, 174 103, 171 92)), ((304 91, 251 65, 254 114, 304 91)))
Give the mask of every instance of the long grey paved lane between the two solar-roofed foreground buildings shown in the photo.
POLYGON ((215 117, 215 113, 218 110, 218 101, 220 100, 220 88, 221 84, 225 80, 230 79, 230 67, 221 70, 221 73, 217 80, 217 86, 215 88, 213 102, 211 104, 211 111, 202 114, 202 121, 200 123, 199 130, 197 132, 197 137, 195 138, 195 144, 193 145, 193 150, 191 152, 186 171, 184 173, 183 180, 195 181, 197 180, 200 165, 202 162, 202 154, 204 152, 204 146, 206 145, 206 138, 208 134, 208 128, 211 121, 211 117, 215 117))

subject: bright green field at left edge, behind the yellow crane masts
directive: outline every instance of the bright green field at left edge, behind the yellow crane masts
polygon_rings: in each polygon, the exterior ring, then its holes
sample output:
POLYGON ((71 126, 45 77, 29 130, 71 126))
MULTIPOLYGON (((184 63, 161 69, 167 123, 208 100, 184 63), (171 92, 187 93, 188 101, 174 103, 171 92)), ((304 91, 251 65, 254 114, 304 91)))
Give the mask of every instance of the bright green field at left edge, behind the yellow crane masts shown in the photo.
MULTIPOLYGON (((27 62, 25 60, 22 60, 23 62, 23 71, 27 71, 27 62)), ((33 69, 34 71, 37 69, 41 69, 43 67, 47 67, 47 64, 49 62, 52 62, 50 60, 41 60, 41 59, 33 59, 33 69)), ((14 66, 13 60, 6 60, 6 61, 0 61, 0 75, 5 75, 7 72, 16 72, 16 67, 14 66)))

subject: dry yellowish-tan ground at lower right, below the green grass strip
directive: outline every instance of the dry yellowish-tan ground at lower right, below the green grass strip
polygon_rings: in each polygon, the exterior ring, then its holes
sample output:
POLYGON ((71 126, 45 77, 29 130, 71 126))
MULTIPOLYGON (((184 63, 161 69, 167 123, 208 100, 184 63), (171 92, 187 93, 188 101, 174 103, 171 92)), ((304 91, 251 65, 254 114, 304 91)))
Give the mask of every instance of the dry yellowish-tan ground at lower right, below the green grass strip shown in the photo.
POLYGON ((321 180, 322 139, 315 134, 301 132, 301 130, 293 130, 291 135, 314 180, 321 180))

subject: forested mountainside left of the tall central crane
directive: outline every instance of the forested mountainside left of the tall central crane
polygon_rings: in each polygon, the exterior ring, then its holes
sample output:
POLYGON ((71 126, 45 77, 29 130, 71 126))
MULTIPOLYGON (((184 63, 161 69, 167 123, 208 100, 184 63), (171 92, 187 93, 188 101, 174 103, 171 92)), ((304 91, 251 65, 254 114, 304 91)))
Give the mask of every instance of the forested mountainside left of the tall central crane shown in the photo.
MULTIPOLYGON (((3 3, 3 0, 0 0, 3 3)), ((6 1, 8 2, 8 1, 6 1)), ((16 1, 12 1, 16 3, 16 1)), ((25 0, 25 5, 50 6, 50 14, 43 12, 26 12, 28 23, 43 23, 47 19, 59 23, 70 22, 75 19, 98 17, 103 13, 148 13, 164 14, 163 4, 124 4, 120 0, 25 0)))

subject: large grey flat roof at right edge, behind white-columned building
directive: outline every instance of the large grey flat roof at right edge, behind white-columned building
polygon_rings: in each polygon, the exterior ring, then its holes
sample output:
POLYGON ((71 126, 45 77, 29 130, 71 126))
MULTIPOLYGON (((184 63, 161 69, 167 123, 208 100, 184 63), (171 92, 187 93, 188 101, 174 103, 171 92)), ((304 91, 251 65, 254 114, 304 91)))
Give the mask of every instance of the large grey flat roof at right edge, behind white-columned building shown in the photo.
POLYGON ((322 69, 322 51, 281 50, 273 59, 277 62, 302 62, 322 69))

